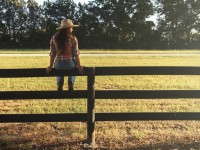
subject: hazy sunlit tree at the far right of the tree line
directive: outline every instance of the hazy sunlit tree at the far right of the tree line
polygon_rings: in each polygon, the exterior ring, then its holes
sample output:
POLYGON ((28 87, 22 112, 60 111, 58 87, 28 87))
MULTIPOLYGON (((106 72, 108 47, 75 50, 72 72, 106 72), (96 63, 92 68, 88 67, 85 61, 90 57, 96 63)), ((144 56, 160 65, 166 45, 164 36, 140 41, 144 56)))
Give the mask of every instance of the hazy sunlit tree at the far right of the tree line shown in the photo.
POLYGON ((200 25, 197 0, 157 0, 159 30, 171 48, 189 47, 200 25))

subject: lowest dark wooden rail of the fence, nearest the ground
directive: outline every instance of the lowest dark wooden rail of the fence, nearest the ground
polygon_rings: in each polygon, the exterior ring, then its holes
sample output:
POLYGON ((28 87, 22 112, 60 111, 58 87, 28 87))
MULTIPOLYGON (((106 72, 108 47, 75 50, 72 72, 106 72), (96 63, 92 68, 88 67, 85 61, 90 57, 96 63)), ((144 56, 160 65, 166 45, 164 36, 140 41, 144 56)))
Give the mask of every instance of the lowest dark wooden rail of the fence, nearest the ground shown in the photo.
MULTIPOLYGON (((95 118, 95 121, 200 120, 200 112, 96 113, 95 118)), ((0 123, 86 121, 86 113, 0 115, 0 123)))

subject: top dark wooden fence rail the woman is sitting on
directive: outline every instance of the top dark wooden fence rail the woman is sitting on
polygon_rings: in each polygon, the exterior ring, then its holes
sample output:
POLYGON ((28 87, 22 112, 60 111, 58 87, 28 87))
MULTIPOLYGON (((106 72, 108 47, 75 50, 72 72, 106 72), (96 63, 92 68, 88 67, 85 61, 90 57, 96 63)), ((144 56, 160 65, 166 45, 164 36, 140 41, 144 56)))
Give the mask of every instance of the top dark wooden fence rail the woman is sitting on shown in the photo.
MULTIPOLYGON (((52 69, 50 74, 45 68, 27 69, 0 69, 0 78, 17 77, 51 77, 51 76, 87 76, 92 67, 84 67, 84 74, 79 74, 78 69, 70 71, 58 71, 52 69)), ((200 67, 187 66, 136 66, 136 67, 95 67, 95 76, 103 75, 200 75, 200 67)))

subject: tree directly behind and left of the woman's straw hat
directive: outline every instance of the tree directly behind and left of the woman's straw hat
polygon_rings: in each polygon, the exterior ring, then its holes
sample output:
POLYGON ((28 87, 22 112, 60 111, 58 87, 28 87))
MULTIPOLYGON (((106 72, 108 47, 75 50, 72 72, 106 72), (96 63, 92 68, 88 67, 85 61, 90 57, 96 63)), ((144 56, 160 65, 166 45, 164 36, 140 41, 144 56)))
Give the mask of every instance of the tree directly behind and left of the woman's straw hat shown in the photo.
POLYGON ((44 2, 41 12, 40 30, 45 35, 44 41, 49 42, 63 18, 74 20, 76 4, 72 0, 48 0, 44 2))

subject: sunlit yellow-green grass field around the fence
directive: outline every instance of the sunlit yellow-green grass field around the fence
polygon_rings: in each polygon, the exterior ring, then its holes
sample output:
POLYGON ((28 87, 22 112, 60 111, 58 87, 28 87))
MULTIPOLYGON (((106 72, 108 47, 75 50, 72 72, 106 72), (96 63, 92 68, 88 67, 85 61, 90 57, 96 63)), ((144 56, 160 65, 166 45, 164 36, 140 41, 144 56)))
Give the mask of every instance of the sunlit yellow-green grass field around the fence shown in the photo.
MULTIPOLYGON (((6 51, 4 51, 6 52, 6 51)), ((0 53, 4 53, 0 52, 0 53)), ((9 51, 11 52, 11 51, 9 51)), ((30 53, 29 51, 27 51, 30 53)), ((48 53, 38 51, 38 53, 48 53)), ((91 53, 93 51, 83 51, 91 53)), ((135 51, 126 51, 136 53, 135 51)), ((145 53, 145 51, 137 51, 145 53)), ((148 51, 148 53, 161 51, 148 51)), ((171 51, 164 51, 170 53, 171 51)), ((181 51, 182 52, 182 51, 181 51)), ((172 53, 181 53, 172 51, 172 53)), ((197 51, 184 51, 196 53, 197 51)), ((11 53, 14 53, 12 51, 11 53)), ((17 51, 17 53, 21 53, 17 51)), ((32 53, 32 52, 31 52, 32 53)), ((94 51, 108 53, 108 51, 94 51)), ((113 52, 114 53, 114 52, 113 52)), ((115 51, 115 53, 125 53, 115 51)), ((84 66, 200 66, 200 56, 81 56, 84 66)), ((48 57, 0 57, 0 68, 45 68, 48 57)), ((65 79, 67 81, 67 78, 65 79)), ((56 90, 55 78, 0 79, 0 91, 56 90)), ((103 76, 96 89, 165 90, 200 89, 200 76, 103 76)), ((86 89, 86 77, 77 77, 75 89, 86 89)), ((67 87, 65 86, 65 89, 67 87)), ((85 99, 9 100, 0 102, 1 114, 83 113, 85 99)), ((199 112, 199 99, 96 100, 96 112, 199 112)), ((97 122, 96 143, 107 149, 200 149, 198 121, 97 122)), ((0 149, 80 149, 85 123, 0 124, 0 149)))

